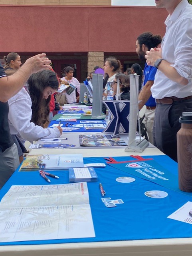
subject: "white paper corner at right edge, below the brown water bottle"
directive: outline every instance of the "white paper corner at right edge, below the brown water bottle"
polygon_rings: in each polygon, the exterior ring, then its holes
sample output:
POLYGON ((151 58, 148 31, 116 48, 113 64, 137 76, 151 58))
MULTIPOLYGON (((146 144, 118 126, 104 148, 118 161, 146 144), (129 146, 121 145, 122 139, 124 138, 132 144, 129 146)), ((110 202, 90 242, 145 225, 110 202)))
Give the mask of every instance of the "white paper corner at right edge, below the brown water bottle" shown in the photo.
POLYGON ((188 201, 167 218, 192 224, 192 216, 189 215, 190 211, 192 211, 192 202, 188 201))

